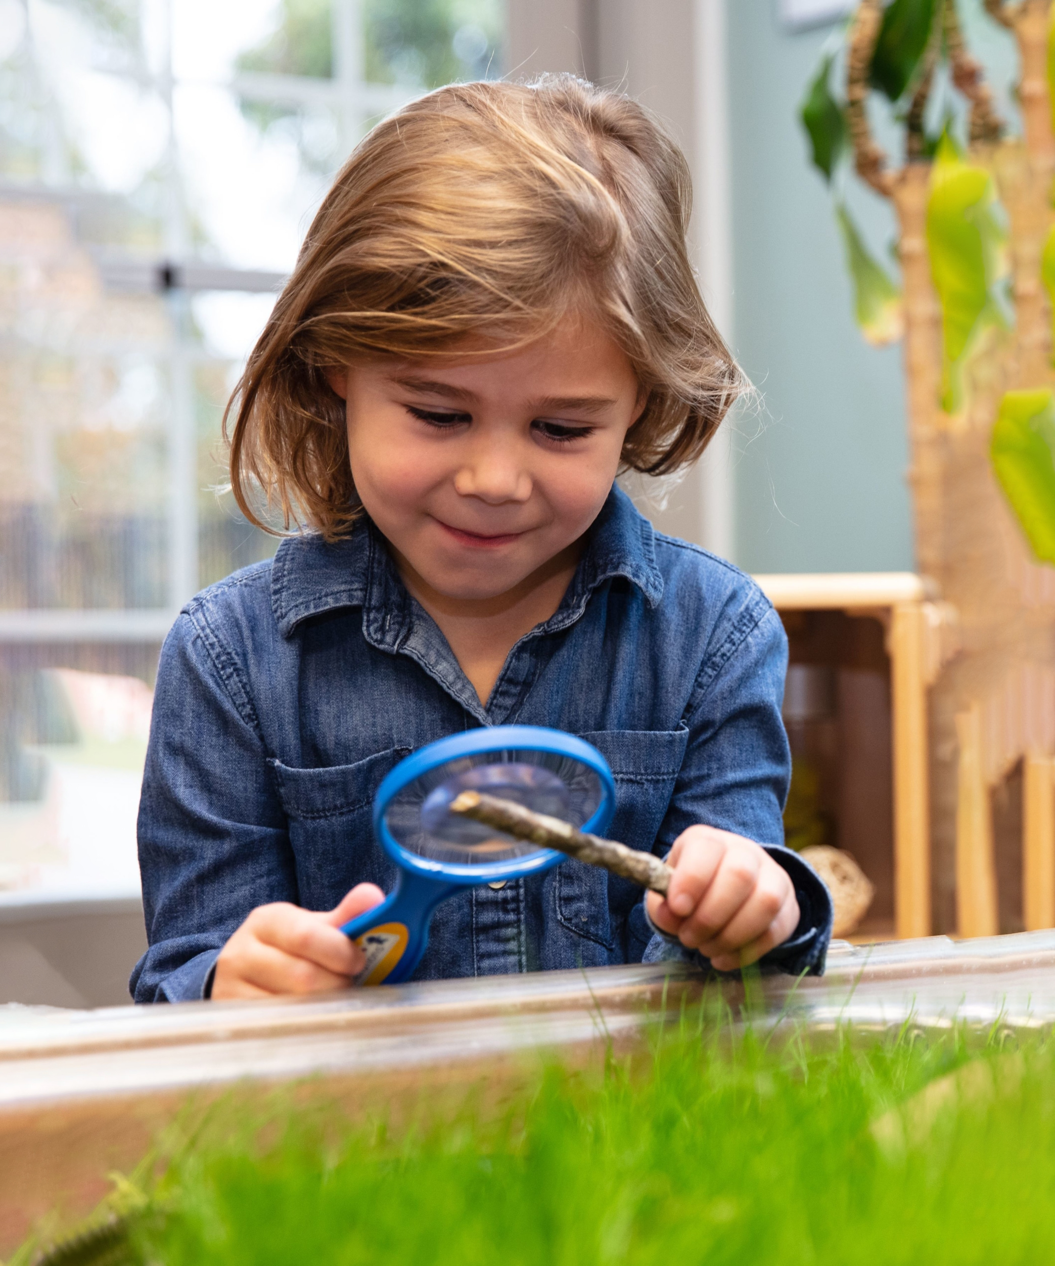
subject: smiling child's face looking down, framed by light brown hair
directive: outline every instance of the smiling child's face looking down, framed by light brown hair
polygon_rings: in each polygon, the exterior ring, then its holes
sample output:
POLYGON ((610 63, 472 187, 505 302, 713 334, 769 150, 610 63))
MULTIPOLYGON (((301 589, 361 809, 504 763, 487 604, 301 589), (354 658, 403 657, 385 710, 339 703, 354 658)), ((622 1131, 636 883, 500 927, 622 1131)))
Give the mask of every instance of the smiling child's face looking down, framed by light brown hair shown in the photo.
POLYGON ((356 490, 401 566, 448 599, 498 598, 597 518, 643 408, 629 360, 569 316, 523 351, 334 375, 356 490))

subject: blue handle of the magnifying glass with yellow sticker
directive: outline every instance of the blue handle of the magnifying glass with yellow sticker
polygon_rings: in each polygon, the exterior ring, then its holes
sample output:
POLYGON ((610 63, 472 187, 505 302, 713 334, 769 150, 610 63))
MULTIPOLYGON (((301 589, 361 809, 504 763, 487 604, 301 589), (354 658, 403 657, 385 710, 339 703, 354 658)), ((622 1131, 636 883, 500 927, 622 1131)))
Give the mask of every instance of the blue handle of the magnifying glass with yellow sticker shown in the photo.
POLYGON ((400 871, 395 887, 380 905, 341 928, 366 955, 356 984, 398 985, 407 980, 428 947, 432 912, 460 886, 400 871))

